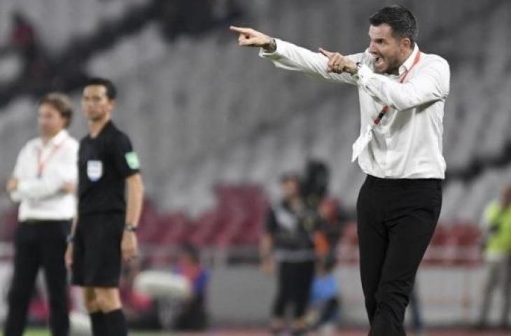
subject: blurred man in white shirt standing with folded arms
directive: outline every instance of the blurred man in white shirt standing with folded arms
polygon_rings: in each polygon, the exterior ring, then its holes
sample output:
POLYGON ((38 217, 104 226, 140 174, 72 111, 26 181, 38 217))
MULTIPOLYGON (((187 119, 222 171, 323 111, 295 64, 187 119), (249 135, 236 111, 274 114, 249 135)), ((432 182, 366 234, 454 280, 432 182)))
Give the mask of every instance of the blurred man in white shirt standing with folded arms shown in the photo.
POLYGON ((73 114, 64 94, 47 94, 38 105, 40 137, 25 144, 6 189, 20 202, 14 238, 14 274, 4 335, 23 334, 39 267, 50 300, 50 332, 69 335, 64 253, 76 214, 78 141, 66 131, 73 114))

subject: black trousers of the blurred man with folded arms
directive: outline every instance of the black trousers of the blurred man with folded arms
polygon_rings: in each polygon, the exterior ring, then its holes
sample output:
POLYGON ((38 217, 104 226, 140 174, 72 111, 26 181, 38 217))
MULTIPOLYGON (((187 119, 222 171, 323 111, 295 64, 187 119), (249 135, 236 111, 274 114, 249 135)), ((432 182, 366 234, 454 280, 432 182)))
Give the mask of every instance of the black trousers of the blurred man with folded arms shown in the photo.
POLYGON ((51 335, 69 335, 64 253, 70 229, 71 221, 34 221, 18 225, 14 239, 13 282, 8 293, 3 335, 23 335, 39 267, 43 267, 48 287, 51 335))

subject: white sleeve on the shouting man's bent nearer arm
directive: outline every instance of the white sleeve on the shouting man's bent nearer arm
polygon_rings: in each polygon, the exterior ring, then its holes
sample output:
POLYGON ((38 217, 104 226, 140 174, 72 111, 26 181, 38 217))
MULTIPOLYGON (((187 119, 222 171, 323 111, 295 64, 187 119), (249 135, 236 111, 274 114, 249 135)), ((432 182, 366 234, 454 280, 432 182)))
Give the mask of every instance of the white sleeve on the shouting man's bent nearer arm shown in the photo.
POLYGON ((363 65, 358 70, 358 85, 381 104, 398 111, 447 98, 450 76, 447 61, 437 57, 414 71, 417 72, 405 83, 396 83, 363 65))

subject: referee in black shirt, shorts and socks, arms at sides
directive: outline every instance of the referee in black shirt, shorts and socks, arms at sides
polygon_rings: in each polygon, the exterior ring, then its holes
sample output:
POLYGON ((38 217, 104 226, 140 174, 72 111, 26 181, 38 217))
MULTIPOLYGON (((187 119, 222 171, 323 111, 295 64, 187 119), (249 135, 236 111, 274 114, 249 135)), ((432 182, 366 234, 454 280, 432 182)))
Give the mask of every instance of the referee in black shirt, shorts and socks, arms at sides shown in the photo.
POLYGON ((122 261, 137 257, 144 194, 137 154, 111 122, 115 99, 116 87, 107 79, 90 79, 83 90, 90 132, 80 141, 78 221, 66 251, 94 336, 127 335, 118 284, 122 261))

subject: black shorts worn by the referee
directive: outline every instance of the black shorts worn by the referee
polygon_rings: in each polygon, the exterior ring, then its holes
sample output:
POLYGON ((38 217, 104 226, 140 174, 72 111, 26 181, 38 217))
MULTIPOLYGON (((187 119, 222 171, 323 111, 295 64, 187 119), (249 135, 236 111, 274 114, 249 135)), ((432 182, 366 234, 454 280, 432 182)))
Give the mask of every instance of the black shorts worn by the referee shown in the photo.
POLYGON ((71 267, 73 285, 119 286, 120 243, 124 226, 124 214, 90 214, 78 217, 71 267))

